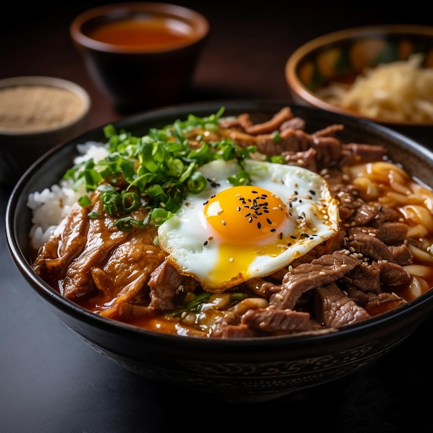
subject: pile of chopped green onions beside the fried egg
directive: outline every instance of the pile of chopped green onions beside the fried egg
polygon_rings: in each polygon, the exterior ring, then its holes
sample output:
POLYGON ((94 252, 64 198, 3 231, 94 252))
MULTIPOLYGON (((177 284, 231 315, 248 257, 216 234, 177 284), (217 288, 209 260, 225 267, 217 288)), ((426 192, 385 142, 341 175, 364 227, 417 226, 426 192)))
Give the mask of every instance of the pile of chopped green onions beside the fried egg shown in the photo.
MULTIPOLYGON (((257 151, 256 147, 240 149, 227 138, 203 140, 203 132, 218 130, 223 112, 221 107, 205 118, 190 114, 187 120, 149 129, 141 137, 107 125, 104 135, 109 156, 98 162, 90 159, 77 164, 64 178, 72 179, 75 189, 84 185, 87 193, 98 190, 104 211, 118 219, 120 230, 130 230, 149 221, 156 225, 163 223, 181 208, 187 194, 205 189, 207 181, 200 173, 201 165, 216 159, 235 159, 242 166, 242 161, 257 151), (199 132, 194 135, 196 130, 199 132), (130 214, 140 205, 149 212, 149 218, 134 221, 130 214)), ((242 170, 229 181, 233 185, 246 185, 250 178, 242 170)), ((79 203, 91 204, 88 196, 79 203)), ((98 217, 95 212, 91 216, 98 217)))

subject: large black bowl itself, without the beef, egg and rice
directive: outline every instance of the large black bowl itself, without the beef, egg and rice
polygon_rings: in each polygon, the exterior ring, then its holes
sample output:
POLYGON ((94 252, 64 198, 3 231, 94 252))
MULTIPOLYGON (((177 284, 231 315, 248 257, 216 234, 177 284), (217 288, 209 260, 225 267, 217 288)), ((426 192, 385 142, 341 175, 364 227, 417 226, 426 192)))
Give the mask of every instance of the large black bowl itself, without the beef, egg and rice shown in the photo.
MULTIPOLYGON (((257 121, 268 120, 283 107, 276 102, 184 104, 125 118, 115 126, 144 135, 149 127, 163 127, 189 113, 208 116, 221 106, 227 115, 248 112, 257 121)), ((413 140, 366 120, 310 107, 291 108, 307 120, 307 131, 342 123, 343 140, 384 145, 391 159, 403 163, 409 174, 433 185, 433 153, 413 140)), ((96 351, 131 371, 225 400, 270 400, 358 371, 394 349, 432 311, 433 291, 429 291, 394 311, 334 333, 239 340, 165 335, 86 311, 53 291, 30 268, 31 212, 26 201, 30 192, 57 183, 71 166, 75 145, 88 140, 104 140, 102 128, 56 147, 21 177, 6 210, 7 241, 19 271, 59 320, 96 351)))

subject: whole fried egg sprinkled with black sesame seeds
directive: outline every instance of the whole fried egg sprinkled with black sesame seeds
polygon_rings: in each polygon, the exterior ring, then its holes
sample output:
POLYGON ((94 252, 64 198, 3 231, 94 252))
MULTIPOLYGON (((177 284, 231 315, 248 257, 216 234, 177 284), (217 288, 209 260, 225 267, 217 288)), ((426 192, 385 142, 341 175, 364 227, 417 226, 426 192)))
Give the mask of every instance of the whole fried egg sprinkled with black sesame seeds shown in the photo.
POLYGON ((220 293, 291 264, 338 231, 338 202, 311 170, 244 160, 200 167, 208 180, 199 194, 158 228, 160 247, 179 273, 220 293), (229 176, 243 169, 251 185, 229 176))

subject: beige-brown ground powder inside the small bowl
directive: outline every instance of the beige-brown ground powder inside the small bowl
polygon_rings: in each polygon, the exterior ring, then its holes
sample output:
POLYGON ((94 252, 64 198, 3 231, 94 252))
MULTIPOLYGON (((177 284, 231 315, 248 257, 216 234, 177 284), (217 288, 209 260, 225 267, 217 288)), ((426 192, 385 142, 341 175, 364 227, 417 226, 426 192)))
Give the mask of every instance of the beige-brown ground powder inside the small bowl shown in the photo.
POLYGON ((0 131, 42 131, 73 122, 83 110, 68 89, 19 85, 0 89, 0 131))

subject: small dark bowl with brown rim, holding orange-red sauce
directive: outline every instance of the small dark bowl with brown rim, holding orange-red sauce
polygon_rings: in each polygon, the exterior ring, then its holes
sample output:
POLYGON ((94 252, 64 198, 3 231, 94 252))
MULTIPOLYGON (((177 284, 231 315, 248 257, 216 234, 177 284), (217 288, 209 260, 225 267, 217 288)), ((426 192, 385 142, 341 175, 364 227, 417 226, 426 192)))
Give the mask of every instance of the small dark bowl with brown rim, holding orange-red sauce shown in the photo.
MULTIPOLYGON (((125 33, 135 30, 125 27, 121 31, 125 37, 125 33)), ((118 3, 86 10, 70 28, 89 74, 120 113, 179 102, 190 87, 208 33, 208 20, 199 12, 156 2, 118 3), (128 26, 145 26, 152 20, 164 23, 178 35, 177 40, 160 43, 151 36, 151 44, 146 38, 139 45, 93 36, 96 28, 107 24, 127 21, 128 26)))

